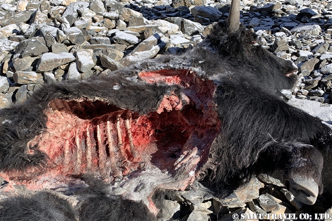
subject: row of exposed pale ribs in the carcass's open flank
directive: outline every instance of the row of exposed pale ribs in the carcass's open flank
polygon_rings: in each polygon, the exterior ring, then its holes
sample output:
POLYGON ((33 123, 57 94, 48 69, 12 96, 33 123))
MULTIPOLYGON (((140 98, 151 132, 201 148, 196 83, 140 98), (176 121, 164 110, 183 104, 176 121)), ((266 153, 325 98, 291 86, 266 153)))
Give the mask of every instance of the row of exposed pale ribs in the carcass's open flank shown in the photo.
MULTIPOLYGON (((131 131, 131 125, 136 124, 136 120, 132 119, 133 113, 110 106, 108 108, 114 109, 113 112, 94 117, 90 116, 91 110, 85 110, 86 104, 89 104, 86 106, 88 108, 99 108, 95 105, 99 102, 67 102, 59 99, 51 102, 51 109, 47 113, 51 122, 48 124, 48 133, 59 130, 52 128, 54 117, 67 120, 68 125, 65 126, 62 139, 56 139, 62 142, 55 143, 53 150, 43 151, 50 156, 53 166, 61 167, 66 175, 97 173, 102 177, 118 177, 128 174, 130 169, 138 166, 140 160, 131 131), (68 127, 71 127, 69 132, 68 127)), ((39 146, 43 145, 39 143, 39 146)))

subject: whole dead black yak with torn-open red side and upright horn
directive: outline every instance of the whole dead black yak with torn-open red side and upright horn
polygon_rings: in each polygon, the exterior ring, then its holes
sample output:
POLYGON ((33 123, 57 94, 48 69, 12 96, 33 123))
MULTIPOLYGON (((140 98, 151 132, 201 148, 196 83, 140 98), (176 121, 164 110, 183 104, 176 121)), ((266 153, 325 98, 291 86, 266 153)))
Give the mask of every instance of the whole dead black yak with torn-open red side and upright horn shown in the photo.
POLYGON ((8 198, 1 220, 152 220, 156 188, 183 190, 205 174, 221 185, 274 170, 299 201, 314 204, 332 131, 279 98, 297 68, 253 44, 236 4, 231 19, 181 56, 45 85, 1 109, 2 194, 20 184, 64 193, 94 186, 79 191, 76 207, 47 191, 8 198))

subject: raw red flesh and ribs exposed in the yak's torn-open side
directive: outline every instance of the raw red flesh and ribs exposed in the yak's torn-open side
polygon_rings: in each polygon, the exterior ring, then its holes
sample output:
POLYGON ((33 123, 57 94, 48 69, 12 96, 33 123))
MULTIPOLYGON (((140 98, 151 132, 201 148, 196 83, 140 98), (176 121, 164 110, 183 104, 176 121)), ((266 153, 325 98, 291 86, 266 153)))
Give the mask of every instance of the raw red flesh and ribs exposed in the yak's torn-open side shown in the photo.
MULTIPOLYGON (((147 83, 178 85, 183 94, 165 95, 157 111, 146 115, 101 101, 56 99, 44 111, 47 130, 28 143, 38 143, 39 150, 50 158, 48 166, 1 176, 34 190, 78 184, 73 178, 76 175, 92 174, 112 181, 157 168, 173 177, 186 177, 182 184, 168 186, 185 188, 207 161, 219 132, 215 85, 190 70, 143 71, 139 77, 147 83), (183 165, 188 170, 181 172, 178 168, 183 165), (183 174, 188 171, 194 174, 183 174)), ((28 152, 33 154, 33 150, 28 152)))

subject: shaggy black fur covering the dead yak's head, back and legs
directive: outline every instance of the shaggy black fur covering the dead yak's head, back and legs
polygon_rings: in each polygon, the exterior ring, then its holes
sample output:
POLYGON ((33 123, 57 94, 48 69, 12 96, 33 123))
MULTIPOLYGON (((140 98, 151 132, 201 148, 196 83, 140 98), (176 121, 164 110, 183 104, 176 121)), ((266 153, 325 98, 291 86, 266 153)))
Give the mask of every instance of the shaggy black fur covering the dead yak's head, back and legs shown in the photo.
MULTIPOLYGON (((47 117, 43 111, 50 101, 97 98, 122 109, 147 114, 156 111, 165 94, 174 91, 180 97, 183 88, 147 84, 137 74, 158 69, 187 69, 216 85, 214 103, 221 121, 220 132, 210 147, 209 160, 201 166, 200 175, 222 189, 223 183, 232 180, 245 182, 253 174, 282 170, 287 186, 292 177, 299 175, 313 179, 321 193, 322 155, 330 155, 332 131, 320 119, 280 99, 279 90, 293 87, 296 67, 253 44, 254 40, 255 35, 244 26, 229 34, 224 23, 218 23, 199 46, 183 55, 138 62, 109 72, 106 77, 43 86, 24 104, 0 110, 0 169, 24 171, 28 167, 40 167, 42 170, 47 164, 48 156, 38 150, 38 144, 30 147, 33 155, 27 154, 26 148, 28 141, 46 129, 47 117), (119 85, 118 90, 114 91, 114 85, 119 85)), ((144 206, 133 202, 122 205, 123 199, 119 204, 100 189, 94 188, 91 197, 81 205, 77 212, 80 220, 126 220, 120 219, 119 214, 128 211, 136 219, 127 220, 151 219, 148 212, 140 214, 146 211, 144 206), (98 212, 101 213, 94 214, 98 212)), ((35 196, 47 198, 44 193, 35 196)), ((9 199, 0 209, 2 217, 11 205, 20 206, 20 202, 31 205, 34 200, 34 196, 9 199)), ((63 218, 59 220, 67 220, 72 214, 70 209, 61 211, 58 215, 63 218)), ((17 215, 25 213, 22 209, 17 215)), ((45 216, 49 214, 53 211, 45 210, 45 216)))

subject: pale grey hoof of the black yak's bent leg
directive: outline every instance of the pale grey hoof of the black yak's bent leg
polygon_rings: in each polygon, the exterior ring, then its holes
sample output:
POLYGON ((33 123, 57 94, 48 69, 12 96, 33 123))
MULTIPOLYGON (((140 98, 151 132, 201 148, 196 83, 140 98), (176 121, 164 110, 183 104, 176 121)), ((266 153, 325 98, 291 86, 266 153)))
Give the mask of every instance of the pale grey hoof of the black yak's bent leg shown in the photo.
POLYGON ((290 180, 290 191, 298 201, 313 205, 317 200, 319 187, 313 179, 295 176, 290 180))

